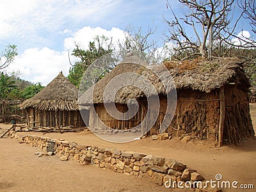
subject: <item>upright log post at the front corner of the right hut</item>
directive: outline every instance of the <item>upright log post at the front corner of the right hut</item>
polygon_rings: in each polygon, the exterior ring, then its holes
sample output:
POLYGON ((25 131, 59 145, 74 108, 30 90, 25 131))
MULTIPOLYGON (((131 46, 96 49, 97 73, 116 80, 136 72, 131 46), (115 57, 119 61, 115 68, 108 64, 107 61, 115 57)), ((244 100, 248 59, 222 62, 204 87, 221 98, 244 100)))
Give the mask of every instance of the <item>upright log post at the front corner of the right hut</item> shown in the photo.
POLYGON ((218 147, 222 146, 223 143, 223 130, 225 120, 225 93, 224 86, 220 89, 220 122, 219 122, 219 135, 218 135, 218 147))

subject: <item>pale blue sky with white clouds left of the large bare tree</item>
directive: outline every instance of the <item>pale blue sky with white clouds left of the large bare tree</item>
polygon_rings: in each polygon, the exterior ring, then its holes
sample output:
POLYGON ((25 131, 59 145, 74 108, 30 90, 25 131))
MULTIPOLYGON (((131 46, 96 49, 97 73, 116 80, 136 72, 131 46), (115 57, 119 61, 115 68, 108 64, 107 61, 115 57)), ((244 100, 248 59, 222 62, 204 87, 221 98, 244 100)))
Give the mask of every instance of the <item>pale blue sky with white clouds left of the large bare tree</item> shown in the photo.
MULTIPOLYGON (((177 1, 170 3, 179 12, 177 1)), ((19 55, 8 72, 19 71, 20 78, 46 85, 60 71, 68 75, 74 41, 86 48, 95 35, 122 40, 127 26, 146 30, 154 22, 161 45, 167 29, 163 15, 170 18, 165 0, 1 0, 0 51, 17 45, 19 55)))

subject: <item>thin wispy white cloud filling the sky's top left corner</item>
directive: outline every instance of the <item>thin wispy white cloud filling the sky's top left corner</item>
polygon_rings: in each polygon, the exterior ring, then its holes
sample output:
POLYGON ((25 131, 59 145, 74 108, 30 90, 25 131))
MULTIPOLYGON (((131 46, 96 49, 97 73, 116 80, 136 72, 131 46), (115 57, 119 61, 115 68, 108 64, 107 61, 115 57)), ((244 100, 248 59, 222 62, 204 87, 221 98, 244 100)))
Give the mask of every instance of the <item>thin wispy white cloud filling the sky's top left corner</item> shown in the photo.
MULTIPOLYGON (((3 0, 0 3, 0 39, 19 36, 36 41, 38 36, 65 31, 81 22, 103 19, 119 1, 3 0)), ((49 36, 47 37, 49 38, 49 36)))

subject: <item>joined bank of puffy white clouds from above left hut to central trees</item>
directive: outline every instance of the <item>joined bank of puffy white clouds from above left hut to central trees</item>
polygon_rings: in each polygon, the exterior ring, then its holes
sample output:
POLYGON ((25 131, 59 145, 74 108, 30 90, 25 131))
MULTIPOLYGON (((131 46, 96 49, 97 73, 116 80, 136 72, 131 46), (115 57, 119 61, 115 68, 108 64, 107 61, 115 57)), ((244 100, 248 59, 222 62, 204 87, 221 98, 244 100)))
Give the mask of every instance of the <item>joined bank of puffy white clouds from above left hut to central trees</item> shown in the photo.
MULTIPOLYGON (((113 42, 117 42, 118 39, 122 40, 124 38, 124 31, 118 28, 112 28, 108 31, 103 28, 84 27, 74 33, 74 36, 65 38, 63 42, 65 51, 54 51, 48 47, 26 49, 15 58, 15 61, 8 67, 8 72, 19 71, 20 78, 46 85, 60 71, 63 71, 64 76, 68 75, 71 67, 68 60, 68 50, 72 51, 74 49, 74 41, 81 45, 83 49, 87 49, 89 42, 96 35, 104 35, 109 38, 113 36, 113 42)), ((74 63, 76 58, 70 55, 70 61, 74 63)))

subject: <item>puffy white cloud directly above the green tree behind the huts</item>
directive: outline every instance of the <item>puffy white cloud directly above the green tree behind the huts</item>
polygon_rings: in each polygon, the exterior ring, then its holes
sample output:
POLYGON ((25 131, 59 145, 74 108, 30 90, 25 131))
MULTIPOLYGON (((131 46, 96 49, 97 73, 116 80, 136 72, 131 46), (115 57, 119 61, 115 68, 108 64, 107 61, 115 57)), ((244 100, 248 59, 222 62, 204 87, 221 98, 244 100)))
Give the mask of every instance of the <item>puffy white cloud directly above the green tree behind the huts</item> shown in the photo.
POLYGON ((118 40, 122 42, 125 38, 124 31, 119 28, 111 28, 111 30, 106 30, 100 27, 92 28, 90 26, 86 26, 82 29, 79 29, 74 33, 72 37, 65 38, 64 40, 64 48, 65 50, 72 51, 75 47, 75 42, 77 45, 82 47, 83 49, 88 49, 89 42, 93 41, 95 36, 106 36, 109 40, 112 38, 112 43, 114 47, 117 47, 118 40))

